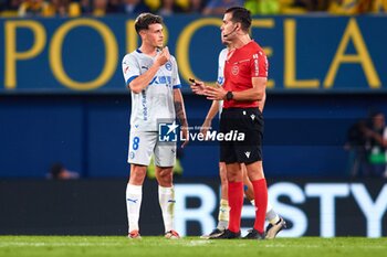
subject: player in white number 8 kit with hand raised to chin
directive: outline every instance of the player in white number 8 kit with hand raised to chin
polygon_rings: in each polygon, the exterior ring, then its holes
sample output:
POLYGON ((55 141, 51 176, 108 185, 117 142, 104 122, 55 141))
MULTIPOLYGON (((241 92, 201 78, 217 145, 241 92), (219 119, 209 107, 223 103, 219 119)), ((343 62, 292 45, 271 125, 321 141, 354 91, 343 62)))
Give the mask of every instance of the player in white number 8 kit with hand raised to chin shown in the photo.
POLYGON ((123 73, 132 93, 130 136, 128 162, 130 178, 126 188, 128 237, 140 238, 138 218, 142 205, 143 183, 151 154, 155 156, 158 199, 161 207, 165 237, 179 238, 174 227, 175 192, 172 167, 176 160, 176 143, 158 141, 158 121, 172 124, 176 116, 181 125, 181 136, 188 142, 188 124, 180 92, 177 63, 163 47, 163 19, 151 13, 142 13, 135 21, 142 46, 125 55, 123 73))

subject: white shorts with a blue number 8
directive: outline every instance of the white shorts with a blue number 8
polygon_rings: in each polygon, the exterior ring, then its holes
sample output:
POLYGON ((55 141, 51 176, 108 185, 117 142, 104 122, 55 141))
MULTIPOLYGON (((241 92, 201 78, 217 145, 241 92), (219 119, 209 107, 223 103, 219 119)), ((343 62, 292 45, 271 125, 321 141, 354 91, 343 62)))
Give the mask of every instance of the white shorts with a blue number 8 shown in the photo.
POLYGON ((149 165, 155 154, 157 167, 174 167, 176 161, 176 142, 159 142, 158 132, 130 130, 129 153, 127 162, 149 165))

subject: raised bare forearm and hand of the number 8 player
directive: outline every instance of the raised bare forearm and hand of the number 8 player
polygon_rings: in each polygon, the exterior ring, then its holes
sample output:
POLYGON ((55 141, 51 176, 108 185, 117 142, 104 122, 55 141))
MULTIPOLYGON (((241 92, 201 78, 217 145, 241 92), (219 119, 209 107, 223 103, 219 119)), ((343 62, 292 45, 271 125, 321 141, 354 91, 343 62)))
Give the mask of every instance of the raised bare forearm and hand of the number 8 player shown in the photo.
POLYGON ((143 73, 142 75, 139 75, 138 77, 129 82, 127 86, 135 94, 142 93, 142 90, 144 90, 149 85, 151 79, 156 76, 157 71, 164 64, 166 64, 169 61, 169 58, 170 58, 170 54, 169 54, 168 47, 166 46, 156 56, 154 64, 148 68, 148 71, 146 71, 145 73, 143 73))

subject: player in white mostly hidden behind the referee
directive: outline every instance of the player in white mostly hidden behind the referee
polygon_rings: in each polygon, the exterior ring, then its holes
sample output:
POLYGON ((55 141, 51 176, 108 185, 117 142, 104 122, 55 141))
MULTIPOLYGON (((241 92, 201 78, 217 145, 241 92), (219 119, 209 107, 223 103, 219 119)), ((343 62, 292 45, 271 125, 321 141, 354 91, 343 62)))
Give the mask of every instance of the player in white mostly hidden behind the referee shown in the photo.
MULTIPOLYGON (((224 45, 228 45, 229 42, 227 39, 222 38, 222 43, 224 45)), ((220 54, 219 54, 219 60, 218 60, 218 84, 222 85, 224 81, 224 75, 223 75, 223 69, 224 69, 224 64, 226 64, 226 57, 228 54, 228 49, 223 49, 220 54)), ((201 83, 201 82, 198 82, 201 83)), ((195 88, 195 84, 194 84, 195 88)), ((263 100, 259 103, 259 108, 263 113, 264 108, 264 103, 265 103, 265 97, 263 100)), ((213 100, 212 105, 207 114, 207 117, 205 119, 203 125, 201 126, 201 133, 206 135, 208 131, 208 128, 211 127, 211 121, 215 118, 215 116, 218 113, 221 113, 221 105, 223 104, 222 100, 213 100)), ((247 170, 244 164, 242 164, 242 170, 243 170, 243 184, 244 184, 244 195, 247 199, 251 202, 252 205, 254 205, 254 192, 253 192, 253 186, 247 175, 247 170)), ((226 174, 226 163, 224 162, 219 162, 219 176, 220 176, 220 184, 221 184, 221 200, 220 200, 220 205, 219 205, 219 214, 218 214, 218 225, 217 227, 209 234, 202 236, 202 238, 215 238, 220 236, 228 227, 229 225, 229 201, 228 201, 228 183, 227 183, 227 174, 226 174)), ((281 232, 283 228, 286 228, 286 223, 285 221, 280 217, 272 205, 268 202, 268 210, 266 210, 266 215, 265 215, 266 221, 269 222, 269 225, 265 231, 265 238, 268 239, 273 239, 275 238, 276 234, 281 232)))

